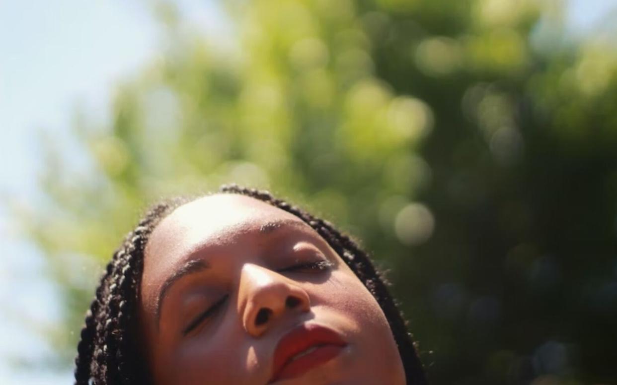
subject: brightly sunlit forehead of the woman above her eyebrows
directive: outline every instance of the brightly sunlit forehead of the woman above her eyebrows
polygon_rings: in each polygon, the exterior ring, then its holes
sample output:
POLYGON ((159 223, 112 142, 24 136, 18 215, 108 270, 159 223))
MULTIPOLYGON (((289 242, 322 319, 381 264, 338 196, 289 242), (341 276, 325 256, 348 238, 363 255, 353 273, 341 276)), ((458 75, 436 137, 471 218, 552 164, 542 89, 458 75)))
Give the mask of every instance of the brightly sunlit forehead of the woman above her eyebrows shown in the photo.
POLYGON ((152 232, 146 245, 144 273, 149 265, 172 267, 176 262, 173 256, 186 256, 204 245, 228 243, 272 221, 304 223, 286 211, 244 195, 209 195, 186 203, 152 232))

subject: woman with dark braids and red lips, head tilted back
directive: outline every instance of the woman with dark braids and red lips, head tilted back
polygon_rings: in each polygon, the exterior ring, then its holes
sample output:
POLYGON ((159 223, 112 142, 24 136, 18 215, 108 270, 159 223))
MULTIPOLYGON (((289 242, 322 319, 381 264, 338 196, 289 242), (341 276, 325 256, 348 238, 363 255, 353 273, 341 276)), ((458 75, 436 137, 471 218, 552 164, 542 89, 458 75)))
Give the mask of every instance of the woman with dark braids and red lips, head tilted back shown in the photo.
POLYGON ((107 265, 76 384, 426 384, 366 253, 236 185, 155 206, 107 265))

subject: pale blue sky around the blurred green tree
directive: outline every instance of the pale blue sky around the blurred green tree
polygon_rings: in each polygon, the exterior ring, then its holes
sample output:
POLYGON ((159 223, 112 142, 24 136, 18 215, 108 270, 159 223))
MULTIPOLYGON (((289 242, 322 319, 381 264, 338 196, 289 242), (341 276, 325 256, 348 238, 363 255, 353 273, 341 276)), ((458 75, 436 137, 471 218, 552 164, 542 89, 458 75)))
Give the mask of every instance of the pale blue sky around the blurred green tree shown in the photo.
MULTIPOLYGON (((575 35, 593 33, 617 4, 568 3, 568 26, 575 35)), ((77 108, 101 122, 110 118, 115 85, 138 73, 160 48, 148 4, 0 0, 0 200, 18 197, 27 204, 36 199, 41 132, 70 149, 77 108)), ((225 17, 214 0, 180 0, 178 6, 197 31, 225 41, 225 17)), ((0 204, 0 384, 72 382, 70 371, 12 364, 36 362, 53 352, 23 320, 44 325, 57 320, 59 311, 57 288, 46 278, 41 256, 15 233, 0 204)))

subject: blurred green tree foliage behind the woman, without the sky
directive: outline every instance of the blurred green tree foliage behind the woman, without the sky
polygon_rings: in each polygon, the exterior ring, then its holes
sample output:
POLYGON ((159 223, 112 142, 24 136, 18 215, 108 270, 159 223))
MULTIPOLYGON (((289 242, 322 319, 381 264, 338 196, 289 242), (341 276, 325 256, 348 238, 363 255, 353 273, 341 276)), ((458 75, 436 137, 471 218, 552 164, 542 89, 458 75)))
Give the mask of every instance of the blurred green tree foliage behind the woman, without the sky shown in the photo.
POLYGON ((433 384, 617 382, 617 50, 547 4, 230 0, 218 45, 157 4, 160 55, 26 216, 65 328, 146 203, 238 182, 363 241, 433 384))

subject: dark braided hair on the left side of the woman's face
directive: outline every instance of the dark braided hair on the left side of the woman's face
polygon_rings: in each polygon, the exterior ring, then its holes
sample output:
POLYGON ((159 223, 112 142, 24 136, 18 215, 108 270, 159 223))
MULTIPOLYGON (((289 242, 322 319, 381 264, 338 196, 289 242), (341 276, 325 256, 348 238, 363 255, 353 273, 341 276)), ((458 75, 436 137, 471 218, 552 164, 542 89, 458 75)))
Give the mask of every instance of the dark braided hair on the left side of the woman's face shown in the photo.
POLYGON ((158 222, 186 201, 175 198, 154 206, 107 264, 81 330, 76 385, 141 384, 147 378, 128 333, 136 314, 144 247, 158 222))

